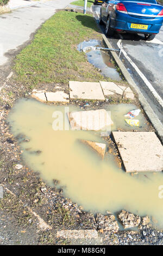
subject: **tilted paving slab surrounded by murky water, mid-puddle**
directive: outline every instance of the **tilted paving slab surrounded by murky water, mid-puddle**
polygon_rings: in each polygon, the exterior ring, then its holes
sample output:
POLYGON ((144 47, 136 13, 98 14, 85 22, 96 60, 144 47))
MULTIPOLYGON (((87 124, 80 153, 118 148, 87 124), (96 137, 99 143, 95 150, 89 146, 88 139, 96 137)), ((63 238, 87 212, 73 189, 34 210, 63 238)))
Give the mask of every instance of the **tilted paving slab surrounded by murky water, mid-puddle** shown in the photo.
POLYGON ((72 130, 99 131, 113 124, 105 109, 67 113, 72 130))

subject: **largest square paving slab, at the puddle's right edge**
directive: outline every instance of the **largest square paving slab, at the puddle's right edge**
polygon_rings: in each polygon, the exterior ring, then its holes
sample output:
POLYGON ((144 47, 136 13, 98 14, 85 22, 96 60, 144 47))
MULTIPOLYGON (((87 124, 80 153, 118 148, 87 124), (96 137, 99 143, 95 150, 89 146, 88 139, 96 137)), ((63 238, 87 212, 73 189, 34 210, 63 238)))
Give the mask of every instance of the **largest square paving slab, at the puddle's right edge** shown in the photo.
POLYGON ((161 172, 163 147, 154 132, 112 132, 126 172, 161 172))

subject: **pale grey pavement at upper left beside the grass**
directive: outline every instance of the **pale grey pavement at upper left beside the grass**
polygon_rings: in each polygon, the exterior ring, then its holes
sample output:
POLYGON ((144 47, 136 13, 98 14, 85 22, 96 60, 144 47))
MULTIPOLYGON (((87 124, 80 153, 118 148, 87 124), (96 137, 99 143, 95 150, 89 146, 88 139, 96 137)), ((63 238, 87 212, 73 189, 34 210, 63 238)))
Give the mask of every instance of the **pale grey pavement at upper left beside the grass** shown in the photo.
POLYGON ((8 62, 14 54, 19 52, 33 33, 49 17, 54 15, 57 9, 63 9, 72 2, 71 0, 53 1, 24 1, 14 0, 9 3, 11 13, 0 15, 0 75, 3 76, 8 62), (19 4, 19 5, 17 5, 19 4), (23 4, 23 8, 22 7, 23 4), (27 6, 25 6, 27 5, 27 6), (17 8, 17 9, 16 9, 17 8), (4 66, 2 66, 4 65, 4 66))

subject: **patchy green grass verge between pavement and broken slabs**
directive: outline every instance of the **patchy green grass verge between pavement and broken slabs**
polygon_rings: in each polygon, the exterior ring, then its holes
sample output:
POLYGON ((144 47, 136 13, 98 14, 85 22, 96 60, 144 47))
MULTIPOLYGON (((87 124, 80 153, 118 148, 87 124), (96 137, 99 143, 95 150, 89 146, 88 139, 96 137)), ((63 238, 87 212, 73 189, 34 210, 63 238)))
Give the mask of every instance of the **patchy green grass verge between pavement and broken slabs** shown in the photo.
POLYGON ((85 53, 77 51, 77 44, 93 38, 102 39, 91 15, 59 11, 17 55, 15 82, 32 89, 40 83, 109 81, 87 62, 85 53))

